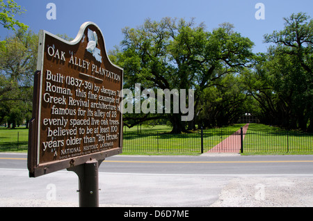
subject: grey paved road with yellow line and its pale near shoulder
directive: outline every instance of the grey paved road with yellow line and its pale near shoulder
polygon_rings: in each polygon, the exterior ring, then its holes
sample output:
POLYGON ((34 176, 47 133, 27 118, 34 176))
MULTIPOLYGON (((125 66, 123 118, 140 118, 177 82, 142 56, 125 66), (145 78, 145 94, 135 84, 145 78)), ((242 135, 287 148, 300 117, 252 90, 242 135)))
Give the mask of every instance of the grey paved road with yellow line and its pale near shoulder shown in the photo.
MULTIPOLYGON (((77 175, 31 179, 26 154, 0 154, 0 206, 78 206, 77 175)), ((113 156, 100 206, 313 206, 313 156, 113 156)))

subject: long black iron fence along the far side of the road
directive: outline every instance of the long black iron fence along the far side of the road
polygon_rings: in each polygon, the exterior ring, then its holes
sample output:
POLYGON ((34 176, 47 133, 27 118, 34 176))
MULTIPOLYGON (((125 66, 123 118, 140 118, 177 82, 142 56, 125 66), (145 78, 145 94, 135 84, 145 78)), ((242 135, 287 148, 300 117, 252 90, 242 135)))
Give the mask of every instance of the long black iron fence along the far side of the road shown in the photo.
MULTIPOLYGON (((28 148, 28 131, 0 133, 0 151, 28 148)), ((192 133, 123 134, 123 152, 129 154, 313 153, 313 133, 285 130, 207 129, 192 133)))

